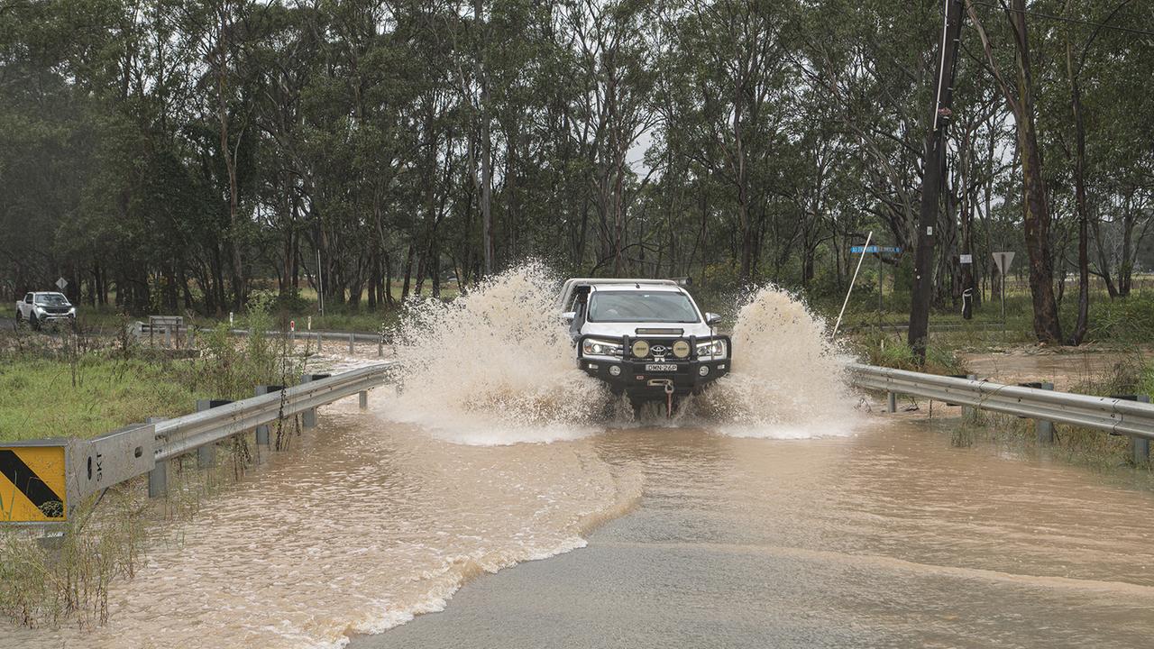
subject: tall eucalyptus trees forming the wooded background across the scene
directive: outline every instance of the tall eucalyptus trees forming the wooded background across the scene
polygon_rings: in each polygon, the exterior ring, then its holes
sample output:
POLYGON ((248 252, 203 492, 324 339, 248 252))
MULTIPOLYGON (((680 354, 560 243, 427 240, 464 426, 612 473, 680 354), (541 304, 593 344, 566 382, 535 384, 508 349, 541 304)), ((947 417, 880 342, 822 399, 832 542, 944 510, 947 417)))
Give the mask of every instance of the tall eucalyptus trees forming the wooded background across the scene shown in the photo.
MULTIPOLYGON (((1134 29, 1154 3, 967 5, 935 301, 980 297, 989 253, 1025 252, 1032 218, 1052 267, 1034 282, 1062 299, 1084 230, 1088 273, 1125 296, 1154 214, 1154 36, 1134 29)), ((262 282, 292 299, 320 277, 328 303, 380 307, 394 284, 439 294, 534 256, 832 293, 867 231, 915 243, 942 14, 7 0, 0 291, 63 276, 93 304, 219 313, 262 282)), ((886 262, 908 282, 908 254, 886 262)))

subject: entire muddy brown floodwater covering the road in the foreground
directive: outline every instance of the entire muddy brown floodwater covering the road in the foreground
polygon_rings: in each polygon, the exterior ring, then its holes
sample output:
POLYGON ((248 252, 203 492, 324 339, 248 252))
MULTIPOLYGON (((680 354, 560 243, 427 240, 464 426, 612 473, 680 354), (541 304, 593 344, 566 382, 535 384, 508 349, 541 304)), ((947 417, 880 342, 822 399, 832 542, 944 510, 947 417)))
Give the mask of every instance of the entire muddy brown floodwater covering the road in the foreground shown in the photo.
POLYGON ((1151 646, 1154 497, 949 425, 464 446, 345 400, 117 582, 106 626, 0 647, 1151 646))

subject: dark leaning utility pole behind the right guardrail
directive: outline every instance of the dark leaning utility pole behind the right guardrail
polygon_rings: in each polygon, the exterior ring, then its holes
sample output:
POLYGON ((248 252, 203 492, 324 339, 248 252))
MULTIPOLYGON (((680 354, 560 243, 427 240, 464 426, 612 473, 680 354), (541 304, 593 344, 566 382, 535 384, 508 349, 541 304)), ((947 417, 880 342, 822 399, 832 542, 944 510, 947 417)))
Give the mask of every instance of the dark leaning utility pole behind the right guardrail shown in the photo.
POLYGON ((945 134, 953 100, 953 73, 961 37, 961 0, 944 0, 942 40, 938 43, 937 84, 934 114, 926 137, 926 164, 922 176, 922 206, 917 218, 917 248, 914 253, 914 294, 909 308, 909 346, 919 363, 926 361, 926 338, 930 324, 930 297, 934 292, 934 229, 942 202, 945 173, 945 134))

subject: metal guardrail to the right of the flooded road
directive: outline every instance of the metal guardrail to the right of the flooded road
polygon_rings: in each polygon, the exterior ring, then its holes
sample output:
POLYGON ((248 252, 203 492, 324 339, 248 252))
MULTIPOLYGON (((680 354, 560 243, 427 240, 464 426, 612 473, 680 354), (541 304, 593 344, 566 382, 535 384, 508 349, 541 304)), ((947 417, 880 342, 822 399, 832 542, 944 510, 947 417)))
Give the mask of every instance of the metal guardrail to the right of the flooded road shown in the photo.
POLYGON ((848 370, 853 385, 884 390, 891 396, 909 394, 1037 422, 1127 435, 1132 441, 1136 462, 1146 461, 1149 440, 1154 439, 1154 405, 1149 403, 938 376, 859 363, 849 364, 848 370))

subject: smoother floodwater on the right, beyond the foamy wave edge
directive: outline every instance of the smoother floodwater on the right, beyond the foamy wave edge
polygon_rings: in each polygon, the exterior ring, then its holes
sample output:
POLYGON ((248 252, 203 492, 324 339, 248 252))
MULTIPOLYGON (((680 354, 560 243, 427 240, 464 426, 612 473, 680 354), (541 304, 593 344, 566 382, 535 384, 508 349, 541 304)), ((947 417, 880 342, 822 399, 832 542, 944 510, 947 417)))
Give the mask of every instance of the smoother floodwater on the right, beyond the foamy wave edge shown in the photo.
POLYGON ((593 447, 640 470, 637 510, 586 549, 484 576, 445 612, 351 647, 1154 641, 1148 492, 952 448, 912 420, 804 441, 620 431, 593 447))

